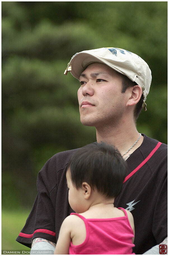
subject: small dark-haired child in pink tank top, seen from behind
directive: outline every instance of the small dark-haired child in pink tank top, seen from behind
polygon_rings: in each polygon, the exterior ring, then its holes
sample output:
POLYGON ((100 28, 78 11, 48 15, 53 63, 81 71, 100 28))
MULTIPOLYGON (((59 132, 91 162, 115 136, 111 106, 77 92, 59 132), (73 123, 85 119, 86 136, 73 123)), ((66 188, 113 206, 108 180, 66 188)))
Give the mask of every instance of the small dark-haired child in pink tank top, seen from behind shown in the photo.
POLYGON ((76 151, 66 178, 71 213, 62 223, 55 254, 135 254, 132 214, 114 207, 126 175, 118 150, 92 143, 76 151))

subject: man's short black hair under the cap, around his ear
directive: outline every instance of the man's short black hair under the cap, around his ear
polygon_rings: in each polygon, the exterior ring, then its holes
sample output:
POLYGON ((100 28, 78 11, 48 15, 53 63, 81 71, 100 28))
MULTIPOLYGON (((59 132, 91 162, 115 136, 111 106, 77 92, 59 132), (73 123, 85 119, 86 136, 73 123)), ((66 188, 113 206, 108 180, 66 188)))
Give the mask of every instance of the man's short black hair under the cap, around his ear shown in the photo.
MULTIPOLYGON (((117 71, 116 71, 117 72, 117 71)), ((117 72, 121 77, 122 77, 122 89, 121 89, 121 93, 125 93, 126 89, 129 87, 133 87, 135 85, 137 85, 136 82, 133 82, 132 80, 130 80, 128 77, 126 77, 125 75, 117 72)), ((137 120, 137 118, 139 117, 139 114, 141 113, 143 107, 143 95, 141 96, 139 102, 136 104, 135 109, 134 109, 134 118, 135 121, 137 120)))

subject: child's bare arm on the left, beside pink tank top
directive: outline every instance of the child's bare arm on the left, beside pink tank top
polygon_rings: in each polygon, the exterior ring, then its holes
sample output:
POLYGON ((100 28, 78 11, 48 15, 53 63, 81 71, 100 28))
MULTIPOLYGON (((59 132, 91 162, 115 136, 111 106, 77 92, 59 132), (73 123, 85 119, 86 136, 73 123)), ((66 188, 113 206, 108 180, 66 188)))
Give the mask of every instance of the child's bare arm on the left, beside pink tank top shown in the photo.
POLYGON ((69 254, 71 243, 71 223, 69 217, 62 223, 54 254, 69 254))

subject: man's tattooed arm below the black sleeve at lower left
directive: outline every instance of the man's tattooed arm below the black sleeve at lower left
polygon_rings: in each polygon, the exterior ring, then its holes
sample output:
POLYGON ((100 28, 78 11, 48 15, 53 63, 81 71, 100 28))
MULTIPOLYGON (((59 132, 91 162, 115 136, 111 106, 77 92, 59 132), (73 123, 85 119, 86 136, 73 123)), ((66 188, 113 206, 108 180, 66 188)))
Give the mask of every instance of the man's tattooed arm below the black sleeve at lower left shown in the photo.
MULTIPOLYGON (((38 238, 35 238, 32 242, 30 254, 35 254, 34 251, 40 251, 40 250, 44 250, 44 253, 42 253, 41 251, 41 254, 48 254, 46 253, 46 251, 53 251, 52 254, 54 254, 55 246, 56 246, 56 243, 51 242, 47 239, 38 237, 38 238)), ((51 253, 49 252, 49 254, 51 253)))

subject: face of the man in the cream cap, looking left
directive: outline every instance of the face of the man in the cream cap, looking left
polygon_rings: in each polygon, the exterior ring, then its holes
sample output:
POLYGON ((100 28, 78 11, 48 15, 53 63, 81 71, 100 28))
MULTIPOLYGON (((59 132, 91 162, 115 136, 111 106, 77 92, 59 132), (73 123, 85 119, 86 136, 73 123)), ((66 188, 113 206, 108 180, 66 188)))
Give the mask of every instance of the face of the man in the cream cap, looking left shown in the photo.
POLYGON ((78 90, 81 123, 103 127, 122 118, 126 106, 122 78, 105 64, 92 63, 80 75, 78 90))

